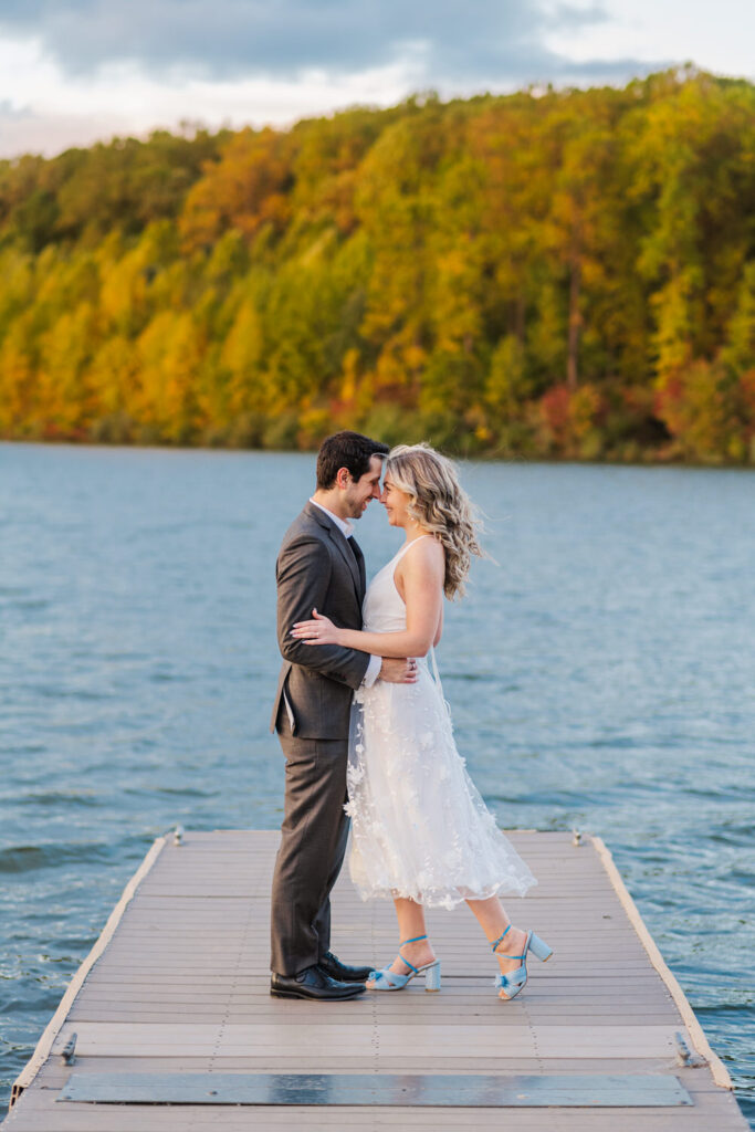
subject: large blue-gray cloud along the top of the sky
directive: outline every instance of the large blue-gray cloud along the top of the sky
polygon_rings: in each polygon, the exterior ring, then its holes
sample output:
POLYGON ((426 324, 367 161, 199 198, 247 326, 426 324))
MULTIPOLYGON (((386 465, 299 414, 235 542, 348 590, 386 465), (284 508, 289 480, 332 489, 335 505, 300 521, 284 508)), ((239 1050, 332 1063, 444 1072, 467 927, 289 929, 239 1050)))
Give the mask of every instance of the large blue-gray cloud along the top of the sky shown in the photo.
POLYGON ((384 67, 402 44, 423 42, 434 72, 522 80, 531 66, 557 69, 548 26, 604 19, 597 0, 2 0, 0 32, 37 35, 68 74, 136 60, 162 74, 175 65, 213 78, 289 78, 310 67, 351 74, 384 67))

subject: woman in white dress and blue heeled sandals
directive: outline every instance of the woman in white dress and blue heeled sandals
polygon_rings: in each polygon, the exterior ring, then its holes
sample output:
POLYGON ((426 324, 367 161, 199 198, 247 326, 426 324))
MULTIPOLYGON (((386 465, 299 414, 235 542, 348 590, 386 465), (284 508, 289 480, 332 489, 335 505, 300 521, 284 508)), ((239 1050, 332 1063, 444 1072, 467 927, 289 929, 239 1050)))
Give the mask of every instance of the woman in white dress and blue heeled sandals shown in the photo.
POLYGON ((482 554, 474 511, 454 464, 424 444, 389 453, 380 501, 405 541, 367 590, 363 629, 337 628, 317 610, 292 629, 314 646, 418 658, 415 684, 377 680, 355 693, 352 709, 351 876, 362 899, 393 898, 402 940, 394 962, 372 971, 367 986, 400 990, 424 974, 426 989, 439 990, 424 908, 466 901, 496 952, 499 996, 514 998, 526 983, 527 952, 541 960, 552 952, 533 932, 512 925, 498 894, 524 895, 537 881, 466 773, 434 652, 444 594, 464 592, 471 556, 482 554))

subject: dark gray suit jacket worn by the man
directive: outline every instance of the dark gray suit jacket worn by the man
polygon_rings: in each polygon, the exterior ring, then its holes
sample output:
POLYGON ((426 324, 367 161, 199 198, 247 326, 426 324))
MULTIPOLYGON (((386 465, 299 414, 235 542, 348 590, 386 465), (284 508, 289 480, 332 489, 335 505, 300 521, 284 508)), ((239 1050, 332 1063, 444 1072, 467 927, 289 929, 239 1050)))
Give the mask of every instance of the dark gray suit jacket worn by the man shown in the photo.
POLYGON ((302 739, 346 739, 353 689, 364 678, 369 653, 341 645, 308 645, 292 637, 294 621, 312 608, 338 628, 362 627, 364 565, 336 524, 308 503, 283 537, 275 568, 277 638, 283 655, 271 731, 285 695, 293 734, 302 739))

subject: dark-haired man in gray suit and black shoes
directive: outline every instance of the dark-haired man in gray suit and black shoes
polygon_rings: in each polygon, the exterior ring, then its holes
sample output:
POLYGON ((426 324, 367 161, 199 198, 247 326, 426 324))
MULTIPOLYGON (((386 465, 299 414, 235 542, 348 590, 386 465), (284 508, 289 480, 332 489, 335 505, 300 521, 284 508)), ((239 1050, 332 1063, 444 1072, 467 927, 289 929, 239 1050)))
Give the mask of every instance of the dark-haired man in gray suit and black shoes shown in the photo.
POLYGON ((346 762, 354 689, 376 679, 413 684, 411 660, 354 649, 314 649, 291 636, 294 621, 325 614, 362 627, 364 557, 352 537, 380 495, 388 448, 359 432, 336 432, 317 457, 317 490, 286 531, 276 566, 277 637, 283 654, 271 730, 285 755, 285 800, 275 860, 271 994, 332 1001, 364 990, 370 967, 348 967, 331 949, 331 890, 349 835, 346 762))

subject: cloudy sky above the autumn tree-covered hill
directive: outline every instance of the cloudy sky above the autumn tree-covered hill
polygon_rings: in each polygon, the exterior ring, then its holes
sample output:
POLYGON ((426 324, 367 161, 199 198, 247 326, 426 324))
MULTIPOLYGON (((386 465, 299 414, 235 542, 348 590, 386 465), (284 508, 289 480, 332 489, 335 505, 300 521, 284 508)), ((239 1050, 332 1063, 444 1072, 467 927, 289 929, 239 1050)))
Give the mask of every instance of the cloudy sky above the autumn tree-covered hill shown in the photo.
POLYGON ((755 78, 743 0, 0 0, 0 156, 693 61, 755 78))

